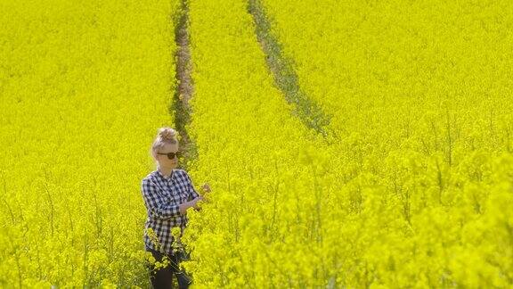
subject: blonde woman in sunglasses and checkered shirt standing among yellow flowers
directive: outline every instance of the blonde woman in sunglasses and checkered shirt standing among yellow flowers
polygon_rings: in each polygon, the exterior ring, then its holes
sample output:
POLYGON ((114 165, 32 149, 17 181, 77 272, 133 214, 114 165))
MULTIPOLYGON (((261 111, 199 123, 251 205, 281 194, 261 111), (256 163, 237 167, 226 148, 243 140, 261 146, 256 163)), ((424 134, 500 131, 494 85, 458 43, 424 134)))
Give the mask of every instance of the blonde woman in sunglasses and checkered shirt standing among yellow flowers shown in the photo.
MULTIPOLYGON (((192 186, 191 178, 178 164, 178 139, 173 128, 159 128, 159 134, 151 145, 151 155, 157 161, 157 170, 142 179, 142 198, 148 219, 145 223, 144 244, 155 260, 170 260, 166 268, 151 269, 153 288, 171 288, 173 275, 176 275, 180 288, 188 288, 191 279, 179 268, 184 258, 179 238, 172 235, 172 228, 180 228, 180 235, 187 225, 187 209, 199 210, 198 202, 203 198, 192 186), (178 248, 178 250, 176 250, 178 248)), ((203 190, 210 192, 208 184, 203 190)))

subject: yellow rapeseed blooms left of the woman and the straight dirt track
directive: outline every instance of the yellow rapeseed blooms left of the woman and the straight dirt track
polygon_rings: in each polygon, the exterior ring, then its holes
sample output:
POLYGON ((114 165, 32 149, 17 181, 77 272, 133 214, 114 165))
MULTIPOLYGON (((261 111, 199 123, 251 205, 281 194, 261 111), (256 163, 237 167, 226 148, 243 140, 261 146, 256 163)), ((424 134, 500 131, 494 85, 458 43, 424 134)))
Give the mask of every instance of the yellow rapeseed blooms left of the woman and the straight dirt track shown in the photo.
POLYGON ((0 287, 145 287, 178 1, 0 1, 0 287))

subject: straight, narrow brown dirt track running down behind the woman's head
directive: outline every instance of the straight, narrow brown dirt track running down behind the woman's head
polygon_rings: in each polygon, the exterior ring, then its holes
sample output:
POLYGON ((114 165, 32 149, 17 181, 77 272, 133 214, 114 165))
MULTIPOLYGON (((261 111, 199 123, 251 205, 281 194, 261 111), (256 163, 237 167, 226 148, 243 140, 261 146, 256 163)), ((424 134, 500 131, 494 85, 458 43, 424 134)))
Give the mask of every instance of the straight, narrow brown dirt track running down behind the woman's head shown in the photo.
POLYGON ((175 90, 173 104, 170 108, 175 113, 175 127, 182 137, 180 139, 180 146, 184 151, 183 169, 187 169, 189 161, 196 158, 197 151, 191 136, 187 129, 191 123, 191 100, 193 93, 193 82, 191 78, 191 50, 189 48, 189 33, 188 33, 188 20, 189 20, 189 7, 182 1, 181 11, 175 15, 175 43, 177 50, 176 58, 176 79, 178 86, 175 90))

